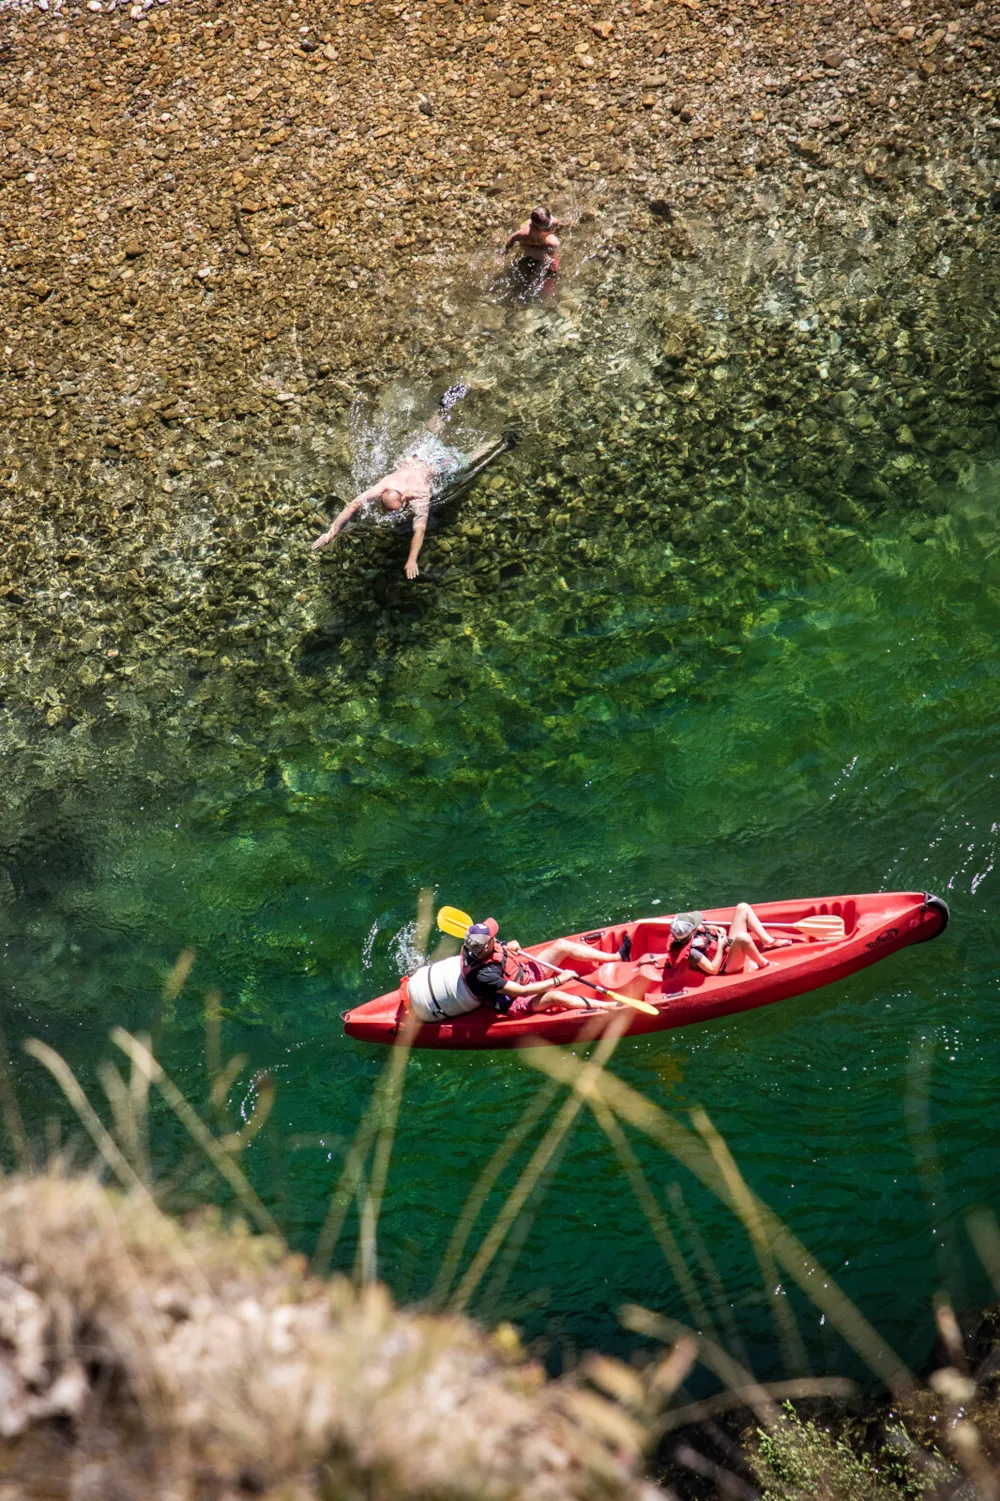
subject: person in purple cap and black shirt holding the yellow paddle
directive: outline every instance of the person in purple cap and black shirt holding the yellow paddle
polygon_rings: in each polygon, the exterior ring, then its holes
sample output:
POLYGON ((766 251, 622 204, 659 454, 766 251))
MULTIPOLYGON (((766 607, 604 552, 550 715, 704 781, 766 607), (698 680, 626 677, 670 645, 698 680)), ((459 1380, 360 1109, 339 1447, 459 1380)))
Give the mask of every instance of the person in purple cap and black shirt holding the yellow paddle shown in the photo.
MULTIPOLYGON (((521 944, 497 941, 497 922, 486 917, 473 923, 462 944, 462 980, 468 991, 498 1016, 530 1016, 533 1012, 613 1010, 614 1001, 584 1000, 560 989, 577 979, 574 970, 544 974, 541 964, 523 953, 521 944)), ((583 959, 587 968, 604 964, 608 955, 574 938, 557 938, 539 952, 539 959, 562 965, 566 959, 583 959)))

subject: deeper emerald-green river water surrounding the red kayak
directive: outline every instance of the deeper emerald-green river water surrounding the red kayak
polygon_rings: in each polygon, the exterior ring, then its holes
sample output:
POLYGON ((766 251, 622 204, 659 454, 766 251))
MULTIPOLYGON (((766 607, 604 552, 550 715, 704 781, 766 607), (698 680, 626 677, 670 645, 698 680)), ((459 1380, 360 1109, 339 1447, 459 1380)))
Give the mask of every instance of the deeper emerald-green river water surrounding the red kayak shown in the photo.
MULTIPOLYGON (((495 913, 524 941, 655 902, 926 887, 952 902, 938 943, 818 995, 625 1042, 614 1061, 667 1108, 703 1105, 749 1183, 919 1361, 932 1292, 983 1294, 961 1213, 995 1202, 1000 1166, 998 500, 1000 477, 985 473, 944 497, 926 540, 845 539, 829 576, 773 593, 745 638, 709 639, 712 590, 731 593, 739 564, 677 602, 670 545, 652 536, 590 573, 497 594, 476 635, 423 620, 377 683, 359 674, 347 711, 317 693, 278 729, 248 725, 239 749, 192 746, 177 796, 152 790, 144 808, 134 784, 99 776, 62 790, 62 835, 29 841, 0 917, 5 1027, 32 1130, 44 1135, 56 1096, 21 1037, 53 1042, 92 1082, 111 1025, 150 1028, 200 1100, 204 992, 218 989, 225 1051, 249 1058, 234 1112, 252 1102, 254 1069, 278 1087, 248 1168, 311 1249, 384 1063, 342 1037, 339 1013, 395 983, 420 887, 495 913), (185 946, 195 968, 164 1003, 185 946), (913 1132, 923 1097, 932 1154, 913 1132)), ((779 548, 761 540, 761 569, 779 548)), ((312 668, 321 675, 321 660, 312 668)), ((431 1288, 461 1204, 538 1088, 517 1057, 414 1055, 378 1244, 399 1297, 431 1288)), ((176 1162, 176 1129, 165 1121, 156 1139, 176 1162)), ((755 1367, 779 1369, 743 1231, 637 1145, 665 1204, 680 1187, 674 1228, 703 1297, 712 1307, 698 1247, 755 1367)), ((508 1171, 500 1190, 512 1181, 508 1171)), ((686 1316, 587 1118, 514 1241, 517 1258, 473 1303, 485 1316, 560 1346, 613 1345, 629 1300, 686 1316)), ((351 1219, 336 1259, 353 1258, 351 1219)), ((844 1364, 818 1313, 796 1309, 811 1364, 844 1364)))

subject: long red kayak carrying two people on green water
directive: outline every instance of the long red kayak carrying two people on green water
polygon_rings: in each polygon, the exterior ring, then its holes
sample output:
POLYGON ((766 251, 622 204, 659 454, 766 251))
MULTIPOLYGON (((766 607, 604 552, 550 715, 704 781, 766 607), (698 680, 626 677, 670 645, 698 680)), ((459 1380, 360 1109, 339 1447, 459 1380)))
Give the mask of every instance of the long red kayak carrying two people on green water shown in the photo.
MULTIPOLYGON (((728 926, 734 908, 718 907, 704 913, 704 920, 728 926)), ((823 985, 842 980, 898 949, 937 938, 949 920, 947 902, 925 892, 875 892, 868 896, 820 896, 797 902, 754 904, 754 911, 775 937, 794 941, 787 949, 767 952, 764 970, 737 974, 700 974, 695 970, 668 971, 664 979, 664 956, 668 944, 670 917, 643 917, 635 923, 616 923, 592 932, 574 934, 608 955, 608 962, 587 970, 580 961, 566 961, 566 968, 626 992, 655 1006, 656 1016, 629 1010, 631 1034, 670 1031, 692 1022, 731 1012, 749 1012, 755 1006, 770 1006, 790 995, 805 995, 823 985), (814 940, 797 935, 790 925, 806 917, 832 916, 844 920, 844 937, 814 940), (619 959, 625 935, 632 940, 629 962, 619 959)), ((551 941, 551 940, 550 940, 551 941)), ((538 953, 545 944, 527 947, 538 953)), ((584 985, 568 985, 568 991, 592 995, 584 985)), ((344 1031, 363 1042, 395 1043, 407 1015, 407 982, 357 1006, 344 1016, 344 1031)), ((530 1016, 506 1019, 480 1006, 465 1016, 446 1022, 422 1024, 408 1039, 416 1048, 520 1048, 526 1043, 577 1042, 587 1039, 614 1018, 622 1025, 622 1012, 536 1012, 530 1016)), ((407 1028, 407 1033, 411 1030, 407 1028)))

